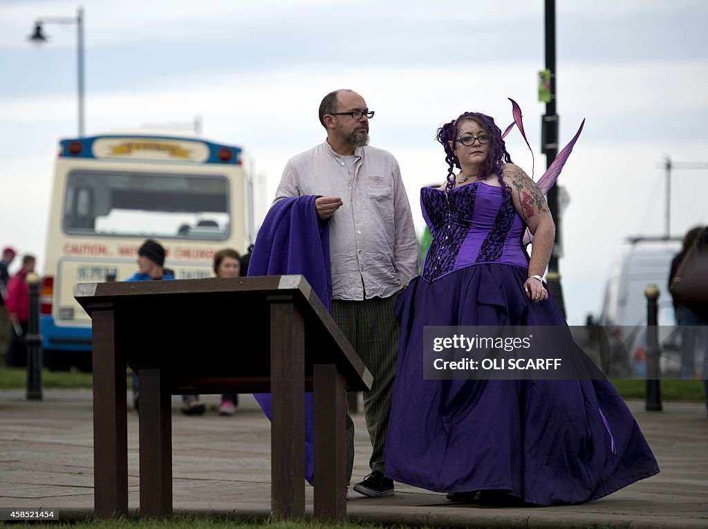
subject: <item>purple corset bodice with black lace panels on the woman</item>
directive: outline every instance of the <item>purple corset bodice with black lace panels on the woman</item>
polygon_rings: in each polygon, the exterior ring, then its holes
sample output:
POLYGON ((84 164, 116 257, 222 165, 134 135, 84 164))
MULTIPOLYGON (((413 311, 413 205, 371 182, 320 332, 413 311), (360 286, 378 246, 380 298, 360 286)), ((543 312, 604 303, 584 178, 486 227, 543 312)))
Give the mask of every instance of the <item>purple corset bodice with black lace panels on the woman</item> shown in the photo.
POLYGON ((423 279, 432 282, 477 263, 528 267, 521 244, 525 224, 501 187, 481 181, 445 191, 421 189, 421 209, 433 242, 423 263, 423 279))

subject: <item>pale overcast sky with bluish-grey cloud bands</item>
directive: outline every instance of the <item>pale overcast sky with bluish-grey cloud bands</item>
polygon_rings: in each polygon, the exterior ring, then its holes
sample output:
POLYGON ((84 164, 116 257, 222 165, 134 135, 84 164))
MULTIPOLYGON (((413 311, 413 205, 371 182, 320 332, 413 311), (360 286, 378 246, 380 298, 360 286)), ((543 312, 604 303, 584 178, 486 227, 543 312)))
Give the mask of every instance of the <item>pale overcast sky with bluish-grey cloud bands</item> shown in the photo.
MULTIPOLYGON (((0 246, 44 265, 57 141, 76 135, 76 16, 69 1, 0 2, 0 246)), ((324 140, 321 98, 350 88, 376 116, 372 144, 399 160, 416 226, 419 188, 445 178, 442 123, 466 110, 510 123, 525 115, 538 178, 537 72, 544 67, 542 0, 137 0, 83 2, 86 134, 192 123, 203 137, 249 153, 260 182, 260 222, 283 166, 324 140)), ((624 238, 663 234, 665 157, 708 163, 708 3, 704 0, 556 1, 561 143, 586 128, 559 183, 560 268, 569 322, 598 313, 624 238)), ((178 132, 178 131, 177 131, 178 132)), ((514 132, 508 148, 529 174, 514 132)), ((672 175, 670 228, 708 222, 708 169, 672 175)))

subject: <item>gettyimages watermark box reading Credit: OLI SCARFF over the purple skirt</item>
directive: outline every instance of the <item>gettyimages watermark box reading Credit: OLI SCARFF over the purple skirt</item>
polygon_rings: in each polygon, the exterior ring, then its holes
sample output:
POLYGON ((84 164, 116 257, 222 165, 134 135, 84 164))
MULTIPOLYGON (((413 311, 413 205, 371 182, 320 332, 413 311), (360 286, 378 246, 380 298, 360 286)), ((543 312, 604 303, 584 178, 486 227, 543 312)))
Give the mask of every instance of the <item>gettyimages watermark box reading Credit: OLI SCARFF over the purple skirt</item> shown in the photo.
POLYGON ((426 380, 601 380, 566 326, 426 326, 426 380))

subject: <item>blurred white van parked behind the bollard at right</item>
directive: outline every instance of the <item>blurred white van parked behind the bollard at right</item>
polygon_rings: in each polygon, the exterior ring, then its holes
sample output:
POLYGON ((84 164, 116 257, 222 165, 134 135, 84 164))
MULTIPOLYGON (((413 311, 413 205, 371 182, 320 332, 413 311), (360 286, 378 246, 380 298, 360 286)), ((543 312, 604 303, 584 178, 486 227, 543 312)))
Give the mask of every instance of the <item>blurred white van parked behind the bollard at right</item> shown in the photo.
POLYGON ((642 377, 646 373, 648 285, 659 289, 658 318, 664 353, 675 349, 675 317, 668 291, 671 261, 681 248, 680 239, 633 239, 632 249, 612 265, 605 288, 603 309, 598 319, 610 335, 609 365, 612 376, 642 377))

